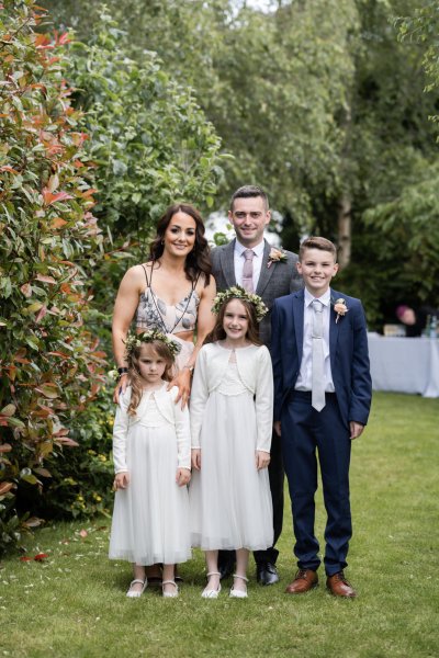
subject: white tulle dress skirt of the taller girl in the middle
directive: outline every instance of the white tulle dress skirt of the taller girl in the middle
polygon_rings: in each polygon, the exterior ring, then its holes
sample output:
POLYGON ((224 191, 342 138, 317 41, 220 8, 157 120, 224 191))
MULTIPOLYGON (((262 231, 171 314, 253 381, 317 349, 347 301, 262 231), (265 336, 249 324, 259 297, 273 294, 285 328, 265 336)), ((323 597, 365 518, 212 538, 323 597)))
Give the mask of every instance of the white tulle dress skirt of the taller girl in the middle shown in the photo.
POLYGON ((273 543, 268 469, 256 469, 256 413, 248 392, 213 392, 201 431, 201 470, 189 488, 192 546, 263 551, 273 543))

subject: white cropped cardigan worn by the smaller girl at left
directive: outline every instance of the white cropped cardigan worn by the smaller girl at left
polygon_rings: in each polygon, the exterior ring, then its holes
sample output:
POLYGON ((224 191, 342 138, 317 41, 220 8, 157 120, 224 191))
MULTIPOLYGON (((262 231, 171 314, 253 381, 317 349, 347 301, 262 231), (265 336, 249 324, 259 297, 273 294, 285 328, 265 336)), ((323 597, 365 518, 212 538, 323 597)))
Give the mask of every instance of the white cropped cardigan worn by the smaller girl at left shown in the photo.
MULTIPOLYGON (((177 454, 179 468, 191 468, 191 430, 189 421, 188 407, 181 409, 181 404, 176 405, 175 400, 178 394, 177 386, 167 390, 167 383, 154 392, 154 397, 157 402, 158 410, 161 416, 176 428, 177 435, 177 454)), ((128 430, 134 424, 142 421, 146 412, 146 399, 144 395, 136 409, 136 416, 128 416, 127 409, 130 406, 132 388, 127 386, 125 393, 121 395, 116 410, 113 427, 113 462, 114 473, 128 472, 126 464, 126 442, 128 430)))

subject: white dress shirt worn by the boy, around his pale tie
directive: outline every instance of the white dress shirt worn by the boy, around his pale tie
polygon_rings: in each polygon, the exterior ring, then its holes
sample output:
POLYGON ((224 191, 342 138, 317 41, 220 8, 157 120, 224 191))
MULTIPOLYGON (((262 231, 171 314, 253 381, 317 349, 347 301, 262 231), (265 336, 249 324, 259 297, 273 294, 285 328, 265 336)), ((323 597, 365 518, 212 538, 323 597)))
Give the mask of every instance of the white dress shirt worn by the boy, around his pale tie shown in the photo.
POLYGON ((323 350, 325 356, 325 392, 334 393, 333 373, 329 359, 329 320, 330 320, 330 288, 322 297, 313 297, 305 288, 303 310, 303 352, 302 363, 294 388, 296 390, 311 390, 313 378, 313 300, 318 299, 323 304, 323 350))

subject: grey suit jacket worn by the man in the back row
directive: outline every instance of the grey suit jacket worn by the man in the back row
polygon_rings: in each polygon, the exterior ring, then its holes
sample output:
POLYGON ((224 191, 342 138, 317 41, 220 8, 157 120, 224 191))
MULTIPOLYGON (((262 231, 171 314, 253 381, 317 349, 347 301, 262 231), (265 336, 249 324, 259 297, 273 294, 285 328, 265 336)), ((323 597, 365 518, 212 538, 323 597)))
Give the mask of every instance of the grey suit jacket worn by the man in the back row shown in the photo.
MULTIPOLYGON (((271 307, 274 299, 295 293, 303 287, 303 281, 300 276, 295 263, 297 256, 291 251, 285 251, 286 262, 271 263, 268 268, 268 257, 271 245, 264 240, 262 266, 259 275, 256 294, 262 297, 263 303, 268 306, 269 313, 266 315, 259 326, 259 334, 261 341, 269 347, 271 337, 271 307)), ((211 252, 212 274, 216 281, 218 291, 236 285, 235 279, 235 240, 223 247, 215 247, 211 252)))

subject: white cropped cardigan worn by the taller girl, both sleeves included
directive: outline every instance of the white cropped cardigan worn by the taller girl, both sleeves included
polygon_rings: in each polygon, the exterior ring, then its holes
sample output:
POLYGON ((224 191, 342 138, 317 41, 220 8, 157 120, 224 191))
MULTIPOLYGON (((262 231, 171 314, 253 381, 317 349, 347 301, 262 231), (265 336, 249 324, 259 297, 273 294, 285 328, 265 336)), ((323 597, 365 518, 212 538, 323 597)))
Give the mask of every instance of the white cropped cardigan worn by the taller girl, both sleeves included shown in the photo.
MULTIPOLYGON (((196 358, 191 390, 192 447, 200 449, 201 424, 209 396, 223 379, 230 351, 217 343, 204 345, 196 358)), ((236 365, 246 388, 255 395, 258 436, 256 450, 270 452, 273 427, 273 371, 271 358, 264 345, 237 349, 236 365)), ((209 423, 209 420, 206 419, 209 423)))

